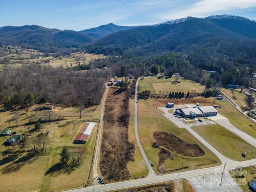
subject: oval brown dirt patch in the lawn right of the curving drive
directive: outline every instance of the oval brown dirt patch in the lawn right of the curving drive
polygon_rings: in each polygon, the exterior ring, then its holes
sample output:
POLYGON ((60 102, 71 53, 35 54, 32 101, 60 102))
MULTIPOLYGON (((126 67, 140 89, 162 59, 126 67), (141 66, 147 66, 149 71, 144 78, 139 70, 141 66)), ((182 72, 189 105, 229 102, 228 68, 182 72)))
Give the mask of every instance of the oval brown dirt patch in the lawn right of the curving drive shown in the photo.
POLYGON ((204 155, 204 151, 197 144, 184 142, 173 134, 166 132, 154 132, 153 137, 156 140, 152 145, 153 147, 163 146, 175 153, 189 157, 204 155))

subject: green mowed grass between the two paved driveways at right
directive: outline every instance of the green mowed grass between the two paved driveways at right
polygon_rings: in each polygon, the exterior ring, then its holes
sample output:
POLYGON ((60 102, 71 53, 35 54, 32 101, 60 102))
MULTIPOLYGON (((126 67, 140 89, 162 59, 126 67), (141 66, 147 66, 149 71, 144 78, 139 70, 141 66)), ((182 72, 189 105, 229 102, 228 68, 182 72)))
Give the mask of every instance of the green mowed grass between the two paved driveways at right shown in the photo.
MULTIPOLYGON (((254 146, 248 144, 246 141, 242 140, 240 137, 218 124, 197 126, 192 127, 192 129, 202 136, 202 138, 204 138, 220 153, 232 160, 247 160, 242 157, 242 152, 244 151, 249 154, 251 152, 255 152, 256 150, 254 146)), ((256 158, 256 154, 254 154, 252 158, 256 158)))

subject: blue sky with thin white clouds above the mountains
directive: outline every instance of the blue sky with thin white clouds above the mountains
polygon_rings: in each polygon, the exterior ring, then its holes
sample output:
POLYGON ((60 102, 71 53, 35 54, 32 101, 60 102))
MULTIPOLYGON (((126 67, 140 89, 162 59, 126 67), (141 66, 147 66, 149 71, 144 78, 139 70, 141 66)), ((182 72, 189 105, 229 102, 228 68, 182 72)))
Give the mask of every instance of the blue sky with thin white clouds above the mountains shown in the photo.
POLYGON ((218 14, 256 20, 256 0, 1 0, 0 7, 0 26, 35 24, 75 31, 218 14))

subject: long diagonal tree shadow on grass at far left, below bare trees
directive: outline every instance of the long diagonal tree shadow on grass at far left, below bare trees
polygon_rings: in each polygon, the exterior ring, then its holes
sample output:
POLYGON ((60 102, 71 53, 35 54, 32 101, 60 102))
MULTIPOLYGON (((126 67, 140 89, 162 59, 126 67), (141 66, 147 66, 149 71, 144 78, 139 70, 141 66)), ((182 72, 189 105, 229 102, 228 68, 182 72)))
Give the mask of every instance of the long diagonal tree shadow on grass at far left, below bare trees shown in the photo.
MULTIPOLYGON (((9 173, 16 172, 16 171, 20 170, 20 168, 22 168, 22 166, 26 165, 27 163, 32 163, 36 159, 38 159, 41 156, 41 154, 42 154, 41 152, 40 153, 28 153, 25 156, 18 158, 16 161, 12 162, 12 164, 3 168, 2 174, 9 174, 9 173)), ((8 157, 6 157, 6 158, 8 158, 8 157)))

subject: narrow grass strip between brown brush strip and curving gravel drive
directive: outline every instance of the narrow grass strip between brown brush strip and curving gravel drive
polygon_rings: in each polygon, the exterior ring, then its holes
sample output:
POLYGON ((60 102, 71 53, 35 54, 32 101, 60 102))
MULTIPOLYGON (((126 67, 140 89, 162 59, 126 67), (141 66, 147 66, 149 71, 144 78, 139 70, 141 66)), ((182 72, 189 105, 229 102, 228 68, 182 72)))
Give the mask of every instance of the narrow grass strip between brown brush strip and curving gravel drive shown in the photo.
POLYGON ((148 168, 144 159, 141 156, 140 149, 138 147, 136 137, 134 134, 134 99, 129 101, 130 122, 129 122, 129 141, 135 145, 135 161, 128 162, 128 169, 131 173, 131 177, 140 177, 148 175, 148 168))

